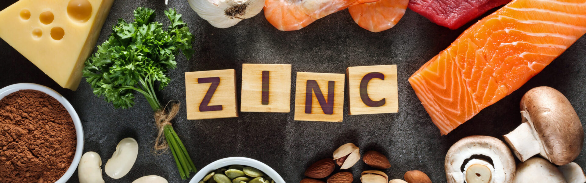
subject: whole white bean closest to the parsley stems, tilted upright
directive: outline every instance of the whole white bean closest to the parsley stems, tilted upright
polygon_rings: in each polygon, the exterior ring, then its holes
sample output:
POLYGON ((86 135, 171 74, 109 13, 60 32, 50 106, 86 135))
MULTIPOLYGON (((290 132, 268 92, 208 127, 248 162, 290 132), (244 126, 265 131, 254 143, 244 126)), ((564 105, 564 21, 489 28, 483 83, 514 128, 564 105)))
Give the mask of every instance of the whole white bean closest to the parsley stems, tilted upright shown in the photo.
POLYGON ((124 138, 116 146, 112 158, 106 162, 104 170, 113 179, 124 177, 128 174, 134 161, 137 160, 138 143, 134 138, 124 138))

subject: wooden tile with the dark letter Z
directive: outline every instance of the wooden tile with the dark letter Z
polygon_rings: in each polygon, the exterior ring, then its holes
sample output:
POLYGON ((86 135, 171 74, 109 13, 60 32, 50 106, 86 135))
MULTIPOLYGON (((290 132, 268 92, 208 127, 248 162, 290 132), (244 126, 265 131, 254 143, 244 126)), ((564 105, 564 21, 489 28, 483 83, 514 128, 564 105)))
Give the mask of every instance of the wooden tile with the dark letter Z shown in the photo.
POLYGON ((238 117, 234 69, 185 73, 187 119, 238 117))

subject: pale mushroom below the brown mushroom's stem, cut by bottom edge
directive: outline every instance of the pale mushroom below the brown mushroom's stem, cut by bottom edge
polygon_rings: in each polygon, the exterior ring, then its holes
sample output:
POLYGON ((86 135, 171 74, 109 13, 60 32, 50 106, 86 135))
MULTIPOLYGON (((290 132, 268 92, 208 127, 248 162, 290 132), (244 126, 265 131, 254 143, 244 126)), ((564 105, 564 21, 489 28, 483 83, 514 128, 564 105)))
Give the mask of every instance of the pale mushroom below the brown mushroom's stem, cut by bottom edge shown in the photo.
POLYGON ((566 183, 564 175, 557 170, 556 165, 534 157, 517 165, 517 172, 513 183, 566 183))

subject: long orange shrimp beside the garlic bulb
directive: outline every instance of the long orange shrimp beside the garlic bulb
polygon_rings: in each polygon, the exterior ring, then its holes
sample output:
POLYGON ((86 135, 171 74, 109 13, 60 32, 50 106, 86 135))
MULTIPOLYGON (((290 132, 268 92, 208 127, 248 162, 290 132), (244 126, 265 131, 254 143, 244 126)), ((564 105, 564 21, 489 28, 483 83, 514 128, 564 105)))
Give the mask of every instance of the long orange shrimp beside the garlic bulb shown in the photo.
POLYGON ((299 30, 352 5, 379 0, 266 0, 264 16, 279 30, 299 30))

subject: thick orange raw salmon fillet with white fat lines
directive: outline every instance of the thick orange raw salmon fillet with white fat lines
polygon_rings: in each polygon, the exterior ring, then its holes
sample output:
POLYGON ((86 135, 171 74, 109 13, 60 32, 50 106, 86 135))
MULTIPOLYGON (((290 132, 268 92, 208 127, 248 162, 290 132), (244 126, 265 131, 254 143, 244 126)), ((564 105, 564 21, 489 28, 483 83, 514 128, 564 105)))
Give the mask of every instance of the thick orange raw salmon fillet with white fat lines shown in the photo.
POLYGON ((515 0, 466 29, 409 78, 448 134, 519 89, 586 33, 586 0, 515 0))

